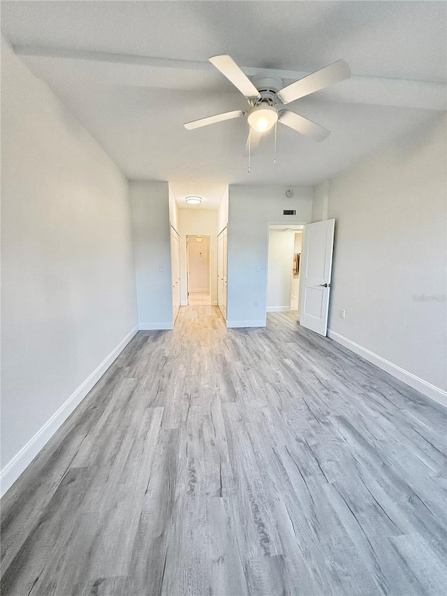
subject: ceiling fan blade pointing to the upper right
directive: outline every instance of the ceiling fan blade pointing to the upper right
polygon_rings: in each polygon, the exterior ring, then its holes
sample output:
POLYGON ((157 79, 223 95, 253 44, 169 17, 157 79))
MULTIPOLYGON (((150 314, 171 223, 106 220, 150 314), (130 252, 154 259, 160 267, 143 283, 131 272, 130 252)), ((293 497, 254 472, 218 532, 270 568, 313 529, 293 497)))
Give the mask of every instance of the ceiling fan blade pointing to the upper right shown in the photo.
POLYGON ((300 99, 300 97, 305 97, 329 87, 329 85, 334 85, 336 82, 349 79, 350 76, 351 68, 349 68, 348 63, 345 60, 337 60, 337 62, 333 62, 329 66, 325 66, 321 70, 307 75, 307 77, 295 81, 287 87, 283 87, 278 92, 278 98, 282 103, 290 103, 295 99, 300 99))

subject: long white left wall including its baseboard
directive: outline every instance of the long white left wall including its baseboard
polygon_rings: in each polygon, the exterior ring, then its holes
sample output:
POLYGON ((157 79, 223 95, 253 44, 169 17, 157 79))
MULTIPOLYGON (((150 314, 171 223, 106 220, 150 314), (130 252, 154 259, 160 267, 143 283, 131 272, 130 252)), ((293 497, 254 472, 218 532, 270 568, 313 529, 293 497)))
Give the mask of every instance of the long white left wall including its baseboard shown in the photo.
POLYGON ((1 119, 4 491, 129 341, 137 316, 128 183, 3 44, 1 119))

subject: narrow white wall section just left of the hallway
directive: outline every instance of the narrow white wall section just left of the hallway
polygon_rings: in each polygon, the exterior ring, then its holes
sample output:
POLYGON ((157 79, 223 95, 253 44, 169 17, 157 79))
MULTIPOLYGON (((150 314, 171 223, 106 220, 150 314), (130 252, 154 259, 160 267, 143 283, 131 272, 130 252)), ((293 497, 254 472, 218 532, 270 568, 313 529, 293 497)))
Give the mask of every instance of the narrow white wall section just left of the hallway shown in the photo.
POLYGON ((131 182, 140 329, 173 328, 168 182, 131 182))

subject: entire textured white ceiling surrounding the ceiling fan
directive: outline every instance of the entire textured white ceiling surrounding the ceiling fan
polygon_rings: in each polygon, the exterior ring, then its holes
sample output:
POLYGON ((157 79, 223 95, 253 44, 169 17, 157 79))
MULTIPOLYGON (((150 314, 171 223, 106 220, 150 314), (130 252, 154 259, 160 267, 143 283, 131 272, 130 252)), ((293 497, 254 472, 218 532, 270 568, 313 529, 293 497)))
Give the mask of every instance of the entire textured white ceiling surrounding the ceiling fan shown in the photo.
POLYGON ((27 46, 17 47, 22 59, 126 175, 173 182, 180 203, 200 189, 217 201, 231 183, 337 175, 427 126, 439 116, 427 107, 439 108, 445 92, 446 3, 437 1, 3 2, 2 31, 27 46), (277 165, 270 133, 249 174, 243 119, 186 131, 188 120, 247 108, 207 64, 219 53, 249 75, 346 59, 352 80, 288 106, 330 129, 329 138, 315 143, 279 126, 277 165))

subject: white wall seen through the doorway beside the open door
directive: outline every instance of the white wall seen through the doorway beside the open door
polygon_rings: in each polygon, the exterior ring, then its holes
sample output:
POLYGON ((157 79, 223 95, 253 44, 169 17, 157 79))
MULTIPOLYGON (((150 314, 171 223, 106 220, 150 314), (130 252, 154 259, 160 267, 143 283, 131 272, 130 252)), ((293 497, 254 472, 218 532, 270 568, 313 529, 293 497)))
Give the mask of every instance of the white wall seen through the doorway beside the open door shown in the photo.
POLYGON ((267 312, 291 310, 295 233, 270 230, 268 238, 267 312))

